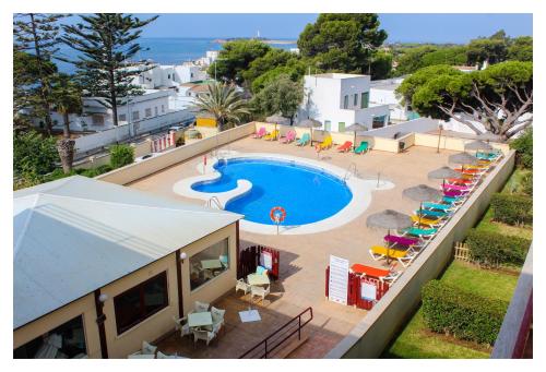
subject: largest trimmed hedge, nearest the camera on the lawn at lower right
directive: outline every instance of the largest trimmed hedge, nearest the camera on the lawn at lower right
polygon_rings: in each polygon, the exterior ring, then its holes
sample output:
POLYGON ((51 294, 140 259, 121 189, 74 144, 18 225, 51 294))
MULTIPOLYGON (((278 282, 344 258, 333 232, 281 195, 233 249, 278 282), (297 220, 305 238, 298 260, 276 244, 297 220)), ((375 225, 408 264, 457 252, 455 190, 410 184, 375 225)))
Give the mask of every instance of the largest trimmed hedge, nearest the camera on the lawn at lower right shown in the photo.
POLYGON ((423 315, 427 327, 460 339, 494 345, 508 302, 489 299, 431 280, 423 287, 423 315))

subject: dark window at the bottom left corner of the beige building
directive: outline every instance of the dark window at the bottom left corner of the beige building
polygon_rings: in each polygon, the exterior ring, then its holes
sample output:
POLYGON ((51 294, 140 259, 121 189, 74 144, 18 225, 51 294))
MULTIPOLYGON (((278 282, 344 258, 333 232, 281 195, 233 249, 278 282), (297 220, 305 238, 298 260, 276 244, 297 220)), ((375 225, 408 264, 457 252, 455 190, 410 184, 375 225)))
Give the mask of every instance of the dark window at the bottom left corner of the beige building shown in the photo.
POLYGON ((14 359, 74 358, 87 353, 82 316, 76 316, 57 328, 13 350, 14 359), (45 340, 48 340, 48 344, 45 340))

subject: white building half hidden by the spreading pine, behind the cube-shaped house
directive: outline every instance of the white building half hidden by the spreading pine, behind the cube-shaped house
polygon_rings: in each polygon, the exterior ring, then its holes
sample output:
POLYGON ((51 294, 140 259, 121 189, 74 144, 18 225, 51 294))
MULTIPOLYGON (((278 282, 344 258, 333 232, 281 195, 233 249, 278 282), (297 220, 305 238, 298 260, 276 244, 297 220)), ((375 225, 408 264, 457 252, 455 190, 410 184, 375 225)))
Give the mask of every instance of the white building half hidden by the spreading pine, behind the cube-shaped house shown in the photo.
POLYGON ((392 122, 413 120, 419 116, 402 104, 402 97, 396 96, 396 88, 404 77, 376 80, 370 83, 370 105, 389 105, 392 122))

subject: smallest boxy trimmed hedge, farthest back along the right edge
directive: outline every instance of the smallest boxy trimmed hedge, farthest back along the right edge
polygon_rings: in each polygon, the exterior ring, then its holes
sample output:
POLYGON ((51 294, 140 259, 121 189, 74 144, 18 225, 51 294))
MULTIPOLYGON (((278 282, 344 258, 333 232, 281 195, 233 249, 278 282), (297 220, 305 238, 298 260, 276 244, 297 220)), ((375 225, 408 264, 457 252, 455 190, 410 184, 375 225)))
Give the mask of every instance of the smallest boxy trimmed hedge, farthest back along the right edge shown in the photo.
POLYGON ((491 197, 492 219, 509 224, 533 224, 533 199, 496 193, 491 197))

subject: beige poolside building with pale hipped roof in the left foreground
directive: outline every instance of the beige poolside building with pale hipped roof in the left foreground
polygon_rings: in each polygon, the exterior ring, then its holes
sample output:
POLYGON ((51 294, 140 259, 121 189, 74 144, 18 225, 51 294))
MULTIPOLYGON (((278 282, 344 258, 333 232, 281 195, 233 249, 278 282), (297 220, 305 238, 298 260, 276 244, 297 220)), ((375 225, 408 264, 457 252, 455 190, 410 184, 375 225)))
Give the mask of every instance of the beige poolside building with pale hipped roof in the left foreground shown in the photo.
POLYGON ((126 358, 235 285, 238 214, 80 176, 13 204, 14 358, 126 358))

